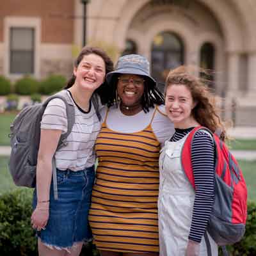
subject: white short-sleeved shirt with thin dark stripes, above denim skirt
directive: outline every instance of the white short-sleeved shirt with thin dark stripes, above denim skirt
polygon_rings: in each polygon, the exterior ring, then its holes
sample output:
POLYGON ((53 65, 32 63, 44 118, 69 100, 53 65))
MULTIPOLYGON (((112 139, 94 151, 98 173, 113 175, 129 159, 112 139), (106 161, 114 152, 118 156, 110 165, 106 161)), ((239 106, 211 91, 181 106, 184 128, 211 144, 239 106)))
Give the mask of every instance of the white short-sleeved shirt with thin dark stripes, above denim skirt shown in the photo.
MULTIPOLYGON (((72 99, 67 90, 67 97, 74 103, 75 124, 67 137, 67 146, 55 153, 56 167, 60 170, 83 170, 95 164, 94 144, 100 131, 100 122, 90 104, 88 112, 83 111, 72 99)), ((42 116, 41 129, 58 129, 67 132, 66 106, 61 99, 52 99, 42 116)))

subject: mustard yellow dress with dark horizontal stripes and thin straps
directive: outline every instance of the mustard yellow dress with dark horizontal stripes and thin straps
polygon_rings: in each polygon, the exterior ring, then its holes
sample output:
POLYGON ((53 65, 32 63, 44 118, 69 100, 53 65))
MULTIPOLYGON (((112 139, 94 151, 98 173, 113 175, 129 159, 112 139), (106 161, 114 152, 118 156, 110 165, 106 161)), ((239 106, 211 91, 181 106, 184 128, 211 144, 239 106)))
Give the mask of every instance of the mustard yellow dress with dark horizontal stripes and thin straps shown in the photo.
POLYGON ((102 124, 95 144, 99 165, 89 214, 99 250, 159 251, 160 143, 151 123, 133 133, 113 131, 106 120, 102 124))

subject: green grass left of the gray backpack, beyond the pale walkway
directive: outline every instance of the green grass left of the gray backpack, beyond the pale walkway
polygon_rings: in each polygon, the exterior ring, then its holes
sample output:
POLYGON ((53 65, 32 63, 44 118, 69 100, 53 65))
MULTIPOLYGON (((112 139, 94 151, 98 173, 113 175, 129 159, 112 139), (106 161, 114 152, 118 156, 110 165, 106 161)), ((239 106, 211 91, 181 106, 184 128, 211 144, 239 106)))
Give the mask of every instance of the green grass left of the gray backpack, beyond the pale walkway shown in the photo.
POLYGON ((10 134, 10 124, 17 113, 1 113, 0 114, 0 145, 9 146, 10 138, 8 134, 10 134))

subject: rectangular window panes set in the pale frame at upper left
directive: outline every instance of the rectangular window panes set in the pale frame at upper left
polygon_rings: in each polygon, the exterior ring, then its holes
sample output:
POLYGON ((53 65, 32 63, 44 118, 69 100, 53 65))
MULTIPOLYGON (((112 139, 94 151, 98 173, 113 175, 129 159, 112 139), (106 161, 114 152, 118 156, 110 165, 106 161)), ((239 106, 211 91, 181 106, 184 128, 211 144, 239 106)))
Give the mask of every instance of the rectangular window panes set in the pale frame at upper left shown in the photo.
POLYGON ((35 72, 35 29, 10 28, 10 73, 35 72))

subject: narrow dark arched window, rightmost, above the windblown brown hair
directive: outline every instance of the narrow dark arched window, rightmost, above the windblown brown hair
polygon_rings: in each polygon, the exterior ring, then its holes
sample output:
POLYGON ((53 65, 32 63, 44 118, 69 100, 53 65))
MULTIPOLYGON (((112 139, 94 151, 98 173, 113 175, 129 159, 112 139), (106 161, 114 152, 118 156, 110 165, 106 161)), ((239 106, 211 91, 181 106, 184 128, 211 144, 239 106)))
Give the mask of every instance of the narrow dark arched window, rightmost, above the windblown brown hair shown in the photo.
POLYGON ((214 88, 215 48, 214 45, 206 42, 200 49, 200 67, 207 70, 209 74, 201 73, 208 86, 214 88))

